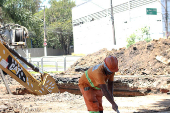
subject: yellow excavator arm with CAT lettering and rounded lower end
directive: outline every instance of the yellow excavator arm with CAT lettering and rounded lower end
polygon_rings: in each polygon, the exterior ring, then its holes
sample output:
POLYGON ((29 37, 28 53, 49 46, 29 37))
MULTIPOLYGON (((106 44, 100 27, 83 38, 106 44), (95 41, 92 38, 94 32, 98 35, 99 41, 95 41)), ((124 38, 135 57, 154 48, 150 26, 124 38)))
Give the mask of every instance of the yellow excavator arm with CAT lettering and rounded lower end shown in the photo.
POLYGON ((36 80, 0 41, 0 68, 36 95, 59 92, 55 80, 43 74, 43 81, 36 80))

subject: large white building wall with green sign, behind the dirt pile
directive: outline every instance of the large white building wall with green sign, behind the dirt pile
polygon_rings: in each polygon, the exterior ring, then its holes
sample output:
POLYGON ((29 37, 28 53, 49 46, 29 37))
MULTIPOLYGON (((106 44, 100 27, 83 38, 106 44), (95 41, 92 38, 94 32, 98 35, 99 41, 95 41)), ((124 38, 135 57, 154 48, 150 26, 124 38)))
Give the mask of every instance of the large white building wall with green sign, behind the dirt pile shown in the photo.
MULTIPOLYGON (((129 0, 113 0, 113 6, 128 2, 129 0)), ((141 2, 141 1, 139 1, 141 2)), ((91 0, 72 9, 73 20, 110 8, 110 0, 91 0), (100 6, 100 7, 99 7, 100 6)), ((169 9, 168 9, 169 10, 169 9)), ((113 30, 110 15, 99 20, 88 21, 73 26, 74 53, 90 54, 100 49, 119 49, 126 47, 127 38, 136 30, 150 27, 150 37, 159 39, 163 37, 164 20, 162 19, 162 6, 159 2, 150 3, 134 9, 114 14, 116 45, 113 43, 113 30), (147 15, 146 8, 157 8, 157 15, 147 15), (160 21, 158 21, 160 20, 160 21)), ((170 28, 169 28, 170 29, 170 28)))

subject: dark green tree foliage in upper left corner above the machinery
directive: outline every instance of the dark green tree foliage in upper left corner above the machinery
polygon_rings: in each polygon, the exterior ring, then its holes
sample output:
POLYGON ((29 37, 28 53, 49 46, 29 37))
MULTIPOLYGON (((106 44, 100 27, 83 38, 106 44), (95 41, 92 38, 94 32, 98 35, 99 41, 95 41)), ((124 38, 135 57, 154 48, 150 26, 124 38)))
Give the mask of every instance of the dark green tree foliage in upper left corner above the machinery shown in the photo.
POLYGON ((33 15, 39 10, 40 3, 40 0, 1 0, 3 23, 14 22, 31 27, 30 22, 33 23, 33 15))

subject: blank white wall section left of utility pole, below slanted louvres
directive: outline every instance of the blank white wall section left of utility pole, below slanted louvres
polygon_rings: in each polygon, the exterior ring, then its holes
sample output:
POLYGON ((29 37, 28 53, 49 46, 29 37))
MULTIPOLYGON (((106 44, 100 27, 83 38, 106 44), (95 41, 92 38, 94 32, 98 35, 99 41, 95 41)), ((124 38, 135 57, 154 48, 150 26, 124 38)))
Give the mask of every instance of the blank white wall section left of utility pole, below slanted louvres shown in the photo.
POLYGON ((74 53, 89 54, 103 48, 113 48, 113 34, 110 19, 102 18, 75 26, 74 53))

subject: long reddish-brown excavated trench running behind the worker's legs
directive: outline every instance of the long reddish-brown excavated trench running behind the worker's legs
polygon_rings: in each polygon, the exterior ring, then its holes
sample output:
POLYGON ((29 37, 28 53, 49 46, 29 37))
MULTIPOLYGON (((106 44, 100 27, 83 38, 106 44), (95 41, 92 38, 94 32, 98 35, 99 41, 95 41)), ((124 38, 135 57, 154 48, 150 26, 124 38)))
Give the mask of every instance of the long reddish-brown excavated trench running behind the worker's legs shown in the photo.
MULTIPOLYGON (((120 83, 118 83, 120 85, 120 83)), ((116 83, 116 85, 118 85, 116 83)), ((75 94, 75 95, 82 95, 78 85, 74 85, 74 84, 58 84, 58 88, 60 90, 60 93, 64 93, 64 92, 69 92, 71 94, 75 94)), ((168 93, 169 90, 168 89, 151 89, 151 88, 146 88, 146 89, 137 89, 137 88, 115 88, 113 95, 115 97, 134 97, 134 96, 145 96, 148 95, 150 93, 168 93)), ((25 94, 32 94, 31 92, 29 92, 26 88, 17 88, 16 91, 13 91, 12 94, 14 95, 25 95, 25 94)))

